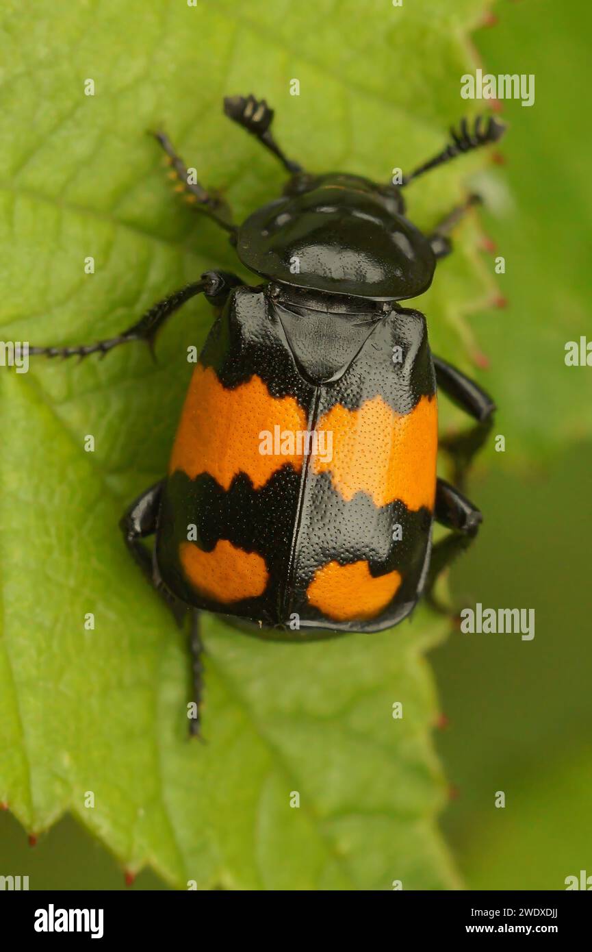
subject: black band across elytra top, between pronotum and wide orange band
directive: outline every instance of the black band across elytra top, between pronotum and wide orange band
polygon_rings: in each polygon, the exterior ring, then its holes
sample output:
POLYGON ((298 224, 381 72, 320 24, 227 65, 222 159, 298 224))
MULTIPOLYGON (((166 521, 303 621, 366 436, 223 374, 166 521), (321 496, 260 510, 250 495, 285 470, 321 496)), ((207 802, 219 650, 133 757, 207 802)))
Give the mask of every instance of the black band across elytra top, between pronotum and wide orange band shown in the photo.
POLYGON ((201 362, 213 367, 228 388, 257 374, 273 397, 295 397, 306 413, 319 378, 329 370, 337 379, 322 385, 325 411, 336 404, 356 409, 381 396, 398 413, 409 413, 422 396, 436 392, 420 311, 393 310, 379 319, 354 316, 352 324, 365 324, 358 336, 342 313, 324 312, 324 318, 326 334, 320 338, 317 321, 308 324, 303 317, 288 324, 285 308, 275 307, 264 291, 236 288, 209 333, 201 362))

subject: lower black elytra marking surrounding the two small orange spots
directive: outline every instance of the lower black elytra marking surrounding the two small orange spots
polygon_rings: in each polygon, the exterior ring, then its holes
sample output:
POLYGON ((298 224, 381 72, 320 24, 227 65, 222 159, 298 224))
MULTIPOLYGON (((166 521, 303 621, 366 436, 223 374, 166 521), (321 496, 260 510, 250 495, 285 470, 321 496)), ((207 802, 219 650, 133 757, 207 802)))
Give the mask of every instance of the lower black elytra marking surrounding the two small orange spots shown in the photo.
MULTIPOLYGON (((293 527, 299 499, 300 474, 283 466, 265 486, 255 489, 245 473, 236 476, 226 491, 207 473, 191 480, 177 470, 168 478, 160 512, 157 559, 168 588, 189 605, 210 611, 229 611, 238 617, 257 618, 267 625, 282 625, 292 612, 303 621, 324 626, 334 623, 306 602, 306 588, 315 571, 336 559, 341 565, 367 560, 372 575, 397 569, 403 576, 397 603, 415 601, 424 568, 431 514, 409 511, 400 501, 375 506, 365 493, 350 502, 333 488, 330 476, 310 474, 310 496, 301 518, 294 569, 286 587, 292 551, 293 527), (403 539, 393 541, 395 525, 403 539), (270 581, 266 592, 253 599, 221 605, 197 593, 187 582, 179 562, 179 546, 187 542, 187 526, 197 529, 195 545, 211 551, 220 539, 265 559, 270 581)), ((389 606, 372 623, 381 625, 389 606)))

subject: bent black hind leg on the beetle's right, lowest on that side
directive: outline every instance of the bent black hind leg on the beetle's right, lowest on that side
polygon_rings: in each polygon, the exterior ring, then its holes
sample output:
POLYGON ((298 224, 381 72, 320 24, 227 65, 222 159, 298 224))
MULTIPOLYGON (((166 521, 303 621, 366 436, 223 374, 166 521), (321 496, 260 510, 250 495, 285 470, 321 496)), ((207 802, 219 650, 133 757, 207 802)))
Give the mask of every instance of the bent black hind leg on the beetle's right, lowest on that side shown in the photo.
POLYGON ((477 506, 469 502, 455 486, 438 479, 434 518, 441 526, 453 531, 432 548, 424 595, 433 608, 449 614, 448 608, 440 605, 434 598, 434 585, 444 569, 471 545, 483 522, 483 516, 477 506))

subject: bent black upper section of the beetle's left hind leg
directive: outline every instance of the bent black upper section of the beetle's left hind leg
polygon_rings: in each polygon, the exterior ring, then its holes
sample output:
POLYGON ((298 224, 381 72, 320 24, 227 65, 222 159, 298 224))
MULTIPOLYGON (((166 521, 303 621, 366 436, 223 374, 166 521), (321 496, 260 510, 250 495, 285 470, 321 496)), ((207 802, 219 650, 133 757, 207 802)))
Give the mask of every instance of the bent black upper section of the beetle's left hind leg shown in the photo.
POLYGON ((152 553, 142 544, 142 540, 154 535, 158 522, 158 511, 164 480, 150 486, 138 499, 129 506, 119 526, 124 535, 128 551, 139 565, 149 584, 158 592, 172 612, 174 619, 181 627, 187 613, 187 605, 172 595, 164 585, 158 566, 152 553))

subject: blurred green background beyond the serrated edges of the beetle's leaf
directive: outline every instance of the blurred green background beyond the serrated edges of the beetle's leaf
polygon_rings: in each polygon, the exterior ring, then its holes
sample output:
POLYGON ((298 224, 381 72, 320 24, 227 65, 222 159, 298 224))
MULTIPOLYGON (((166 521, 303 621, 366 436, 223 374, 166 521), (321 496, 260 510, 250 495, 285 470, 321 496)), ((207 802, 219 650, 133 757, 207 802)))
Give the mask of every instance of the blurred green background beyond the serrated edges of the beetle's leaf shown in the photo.
MULTIPOLYGON (((484 313, 476 327, 498 368, 492 379, 500 381, 504 327, 523 322, 524 374, 504 380, 495 394, 497 431, 504 432, 510 408, 520 416, 522 401, 540 402, 544 455, 537 468, 512 470, 501 454, 485 454, 470 486, 485 522, 478 544, 453 570, 452 590, 458 605, 535 608, 536 636, 523 642, 457 631, 432 653, 448 719, 437 744, 455 788, 442 824, 469 888, 562 889, 566 876, 581 869, 592 874, 592 446, 577 442, 577 432, 568 448, 545 444, 544 421, 554 414, 558 375, 573 387, 573 401, 582 401, 582 419, 590 415, 584 378, 592 370, 563 366, 562 344, 570 335, 562 341, 554 331, 567 323, 571 292, 589 300, 583 222, 592 204, 586 188, 592 149, 581 112, 592 14, 582 0, 569 7, 502 2, 497 13, 499 24, 479 30, 474 41, 488 71, 535 73, 536 105, 504 104, 511 131, 503 177, 514 206, 496 220, 484 214, 483 222, 506 259, 498 280, 509 306, 484 313), (546 286, 532 280, 542 273, 546 286), (533 333, 541 338, 533 341, 533 333), (499 790, 504 809, 494 805, 499 790)), ((582 333, 585 318, 582 313, 582 333)), ((506 457, 522 455, 517 441, 508 441, 506 457)), ((125 888, 118 865, 69 819, 31 850, 19 825, 2 814, 0 842, 3 866, 28 873, 34 888, 125 888)), ((145 871, 132 888, 166 887, 145 871)))

